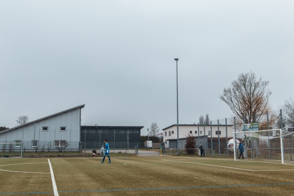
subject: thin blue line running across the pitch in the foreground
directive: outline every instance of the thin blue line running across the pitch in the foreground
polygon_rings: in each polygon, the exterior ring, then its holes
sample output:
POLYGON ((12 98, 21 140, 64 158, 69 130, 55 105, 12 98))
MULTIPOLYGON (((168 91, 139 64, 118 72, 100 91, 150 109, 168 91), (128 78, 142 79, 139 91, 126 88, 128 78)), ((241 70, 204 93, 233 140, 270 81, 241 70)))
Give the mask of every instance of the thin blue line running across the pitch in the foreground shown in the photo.
MULTIPOLYGON (((276 186, 276 185, 294 185, 294 183, 244 184, 244 185, 196 186, 196 187, 163 187, 163 188, 138 188, 138 189, 110 189, 110 190, 83 190, 83 191, 58 191, 58 192, 59 193, 83 193, 83 192, 112 192, 112 191, 141 191, 141 190, 168 190, 168 189, 198 189, 198 188, 224 188, 224 187, 249 187, 249 186, 276 186)), ((0 195, 50 194, 50 193, 53 193, 53 192, 0 193, 0 195)))

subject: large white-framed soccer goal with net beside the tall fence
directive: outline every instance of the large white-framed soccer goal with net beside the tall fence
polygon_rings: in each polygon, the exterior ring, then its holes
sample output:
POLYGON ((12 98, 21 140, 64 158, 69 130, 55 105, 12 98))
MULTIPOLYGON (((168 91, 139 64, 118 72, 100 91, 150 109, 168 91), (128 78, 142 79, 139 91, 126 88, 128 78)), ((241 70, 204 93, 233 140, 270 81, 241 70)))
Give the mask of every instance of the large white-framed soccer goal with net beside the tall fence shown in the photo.
MULTIPOLYGON (((244 158, 294 163, 294 133, 282 129, 234 132, 234 139, 243 144, 244 158)), ((234 147, 234 159, 240 156, 239 144, 234 147)))

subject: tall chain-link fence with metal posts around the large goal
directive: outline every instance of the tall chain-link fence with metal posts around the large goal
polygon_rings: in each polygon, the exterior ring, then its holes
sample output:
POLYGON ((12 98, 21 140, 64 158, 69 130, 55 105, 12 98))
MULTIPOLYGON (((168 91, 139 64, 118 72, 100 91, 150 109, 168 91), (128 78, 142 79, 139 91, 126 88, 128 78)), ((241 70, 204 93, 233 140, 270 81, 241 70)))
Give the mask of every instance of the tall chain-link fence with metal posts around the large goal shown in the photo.
MULTIPOLYGON (((232 144, 234 132, 242 132, 244 124, 257 124, 257 130, 270 130, 281 128, 284 135, 287 135, 289 125, 285 122, 282 110, 269 111, 266 113, 255 114, 253 116, 244 117, 230 117, 210 121, 209 124, 196 124, 195 126, 195 140, 196 140, 196 155, 198 155, 199 145, 203 145, 204 151, 207 156, 227 156, 233 157, 234 151, 232 144)), ((179 130, 181 131, 181 130, 179 130)), ((191 132, 190 132, 191 133, 191 132)), ((241 142, 244 138, 240 135, 237 138, 241 142)), ((169 147, 165 149, 165 153, 177 153, 177 143, 175 140, 170 141, 169 147), (173 142, 173 143, 172 143, 173 142)), ((292 143, 291 143, 292 144, 292 143)), ((180 139, 178 142, 180 154, 186 153, 187 149, 186 139, 180 139)))

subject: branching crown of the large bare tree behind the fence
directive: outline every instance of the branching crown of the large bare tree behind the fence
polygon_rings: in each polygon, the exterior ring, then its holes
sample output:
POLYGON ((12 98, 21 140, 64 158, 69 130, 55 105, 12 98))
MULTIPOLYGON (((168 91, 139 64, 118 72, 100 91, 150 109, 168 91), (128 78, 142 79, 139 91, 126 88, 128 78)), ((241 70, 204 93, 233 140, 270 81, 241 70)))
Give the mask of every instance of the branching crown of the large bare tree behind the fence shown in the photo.
POLYGON ((220 98, 245 123, 255 123, 270 110, 268 85, 269 81, 262 81, 261 77, 257 79, 255 73, 241 73, 231 87, 223 89, 220 98))

